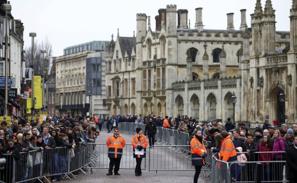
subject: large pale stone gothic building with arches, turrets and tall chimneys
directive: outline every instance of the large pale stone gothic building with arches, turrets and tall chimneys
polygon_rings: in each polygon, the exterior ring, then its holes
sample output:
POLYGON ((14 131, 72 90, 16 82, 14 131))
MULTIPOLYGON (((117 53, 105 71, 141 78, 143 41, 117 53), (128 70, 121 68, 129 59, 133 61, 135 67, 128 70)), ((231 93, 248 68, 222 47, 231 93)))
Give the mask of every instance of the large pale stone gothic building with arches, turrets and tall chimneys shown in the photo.
POLYGON ((290 32, 275 30, 270 0, 264 11, 256 1, 250 28, 246 10, 240 10, 239 30, 234 29, 233 13, 227 14, 226 30, 204 29, 202 8, 195 9, 195 28, 188 26, 188 11, 177 10, 176 5, 159 9, 155 31, 150 17, 137 14, 136 38, 118 34, 106 60, 110 115, 184 113, 199 120, 226 121, 233 117, 234 93, 235 121, 262 123, 269 118, 293 123, 297 118, 296 6, 294 0, 290 32))

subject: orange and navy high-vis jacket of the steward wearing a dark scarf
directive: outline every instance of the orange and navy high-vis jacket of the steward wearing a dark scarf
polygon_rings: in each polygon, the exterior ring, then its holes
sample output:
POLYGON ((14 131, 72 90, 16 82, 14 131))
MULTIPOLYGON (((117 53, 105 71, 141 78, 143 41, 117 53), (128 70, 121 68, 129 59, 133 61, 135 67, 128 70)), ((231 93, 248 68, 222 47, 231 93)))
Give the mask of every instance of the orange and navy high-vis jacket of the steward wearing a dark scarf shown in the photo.
POLYGON ((202 158, 203 153, 207 153, 204 144, 200 143, 194 135, 190 142, 190 146, 192 153, 192 166, 205 165, 204 159, 202 158))

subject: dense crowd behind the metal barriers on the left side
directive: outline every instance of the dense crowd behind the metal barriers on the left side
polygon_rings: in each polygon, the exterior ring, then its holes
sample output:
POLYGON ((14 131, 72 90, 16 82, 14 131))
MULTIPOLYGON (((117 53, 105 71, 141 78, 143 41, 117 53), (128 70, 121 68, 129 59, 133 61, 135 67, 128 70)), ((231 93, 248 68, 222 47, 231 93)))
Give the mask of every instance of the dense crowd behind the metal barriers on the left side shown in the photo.
POLYGON ((95 141, 100 133, 96 129, 97 123, 94 116, 71 118, 69 115, 57 115, 54 119, 46 118, 40 122, 38 118, 37 121, 28 120, 28 116, 24 115, 23 118, 12 117, 9 129, 7 122, 2 121, 0 158, 6 158, 6 163, 0 165, 0 180, 12 182, 15 179, 19 182, 46 174, 54 175, 50 182, 65 179, 63 172, 71 165, 69 154, 71 159, 75 158, 80 152, 80 145, 95 141), (14 160, 15 177, 12 176, 14 160))

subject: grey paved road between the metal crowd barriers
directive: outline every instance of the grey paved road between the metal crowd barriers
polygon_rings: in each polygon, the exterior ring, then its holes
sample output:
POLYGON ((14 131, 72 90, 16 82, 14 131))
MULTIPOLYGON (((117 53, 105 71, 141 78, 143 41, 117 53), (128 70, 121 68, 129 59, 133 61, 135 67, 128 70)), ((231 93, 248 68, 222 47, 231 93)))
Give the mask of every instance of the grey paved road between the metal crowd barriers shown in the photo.
MULTIPOLYGON (((120 132, 121 133, 121 132, 120 132)), ((107 133, 106 131, 102 131, 100 136, 97 138, 96 143, 106 143, 106 139, 112 133, 107 133)), ((135 133, 136 134, 136 133, 135 133)), ((131 144, 132 135, 121 134, 127 144, 131 144)), ((142 170, 142 176, 135 176, 134 167, 136 165, 135 159, 133 158, 133 150, 131 145, 127 145, 124 147, 124 154, 121 161, 121 167, 119 173, 121 175, 116 176, 107 176, 108 173, 108 163, 109 159, 107 158, 107 146, 106 145, 98 145, 100 146, 100 158, 97 166, 104 167, 103 169, 93 169, 93 174, 91 175, 83 175, 80 173, 78 175, 78 179, 72 179, 71 182, 193 182, 193 177, 195 171, 185 170, 185 171, 157 171, 157 176, 155 176, 155 171, 149 171, 149 153, 147 153, 147 162, 146 162, 146 170, 142 170), (129 168, 129 169, 124 169, 129 168)), ((178 154, 172 153, 172 151, 165 150, 164 147, 154 147, 151 151, 151 156, 154 156, 154 161, 151 162, 151 167, 154 168, 162 168, 162 169, 171 169, 171 167, 175 167, 177 169, 189 169, 190 161, 185 161, 184 158, 178 157, 178 154), (166 155, 165 155, 166 154, 166 155), (157 156, 162 155, 166 158, 157 158, 157 156), (169 163, 174 162, 174 163, 169 163)), ((142 161, 142 167, 144 168, 144 159, 142 161)), ((63 182, 69 182, 70 180, 65 180, 63 182)), ((203 177, 203 172, 201 172, 199 177, 199 182, 207 183, 208 180, 203 177)))

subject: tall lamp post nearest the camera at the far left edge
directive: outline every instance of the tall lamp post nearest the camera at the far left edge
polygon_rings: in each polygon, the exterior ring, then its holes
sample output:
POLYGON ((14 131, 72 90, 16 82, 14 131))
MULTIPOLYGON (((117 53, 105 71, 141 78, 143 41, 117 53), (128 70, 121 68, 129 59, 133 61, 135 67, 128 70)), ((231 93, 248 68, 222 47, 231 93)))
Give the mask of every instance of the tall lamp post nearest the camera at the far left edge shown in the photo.
POLYGON ((1 9, 5 11, 5 103, 4 103, 4 116, 8 116, 8 34, 7 34, 7 25, 8 25, 8 18, 7 18, 7 11, 11 10, 10 4, 2 4, 1 9))

